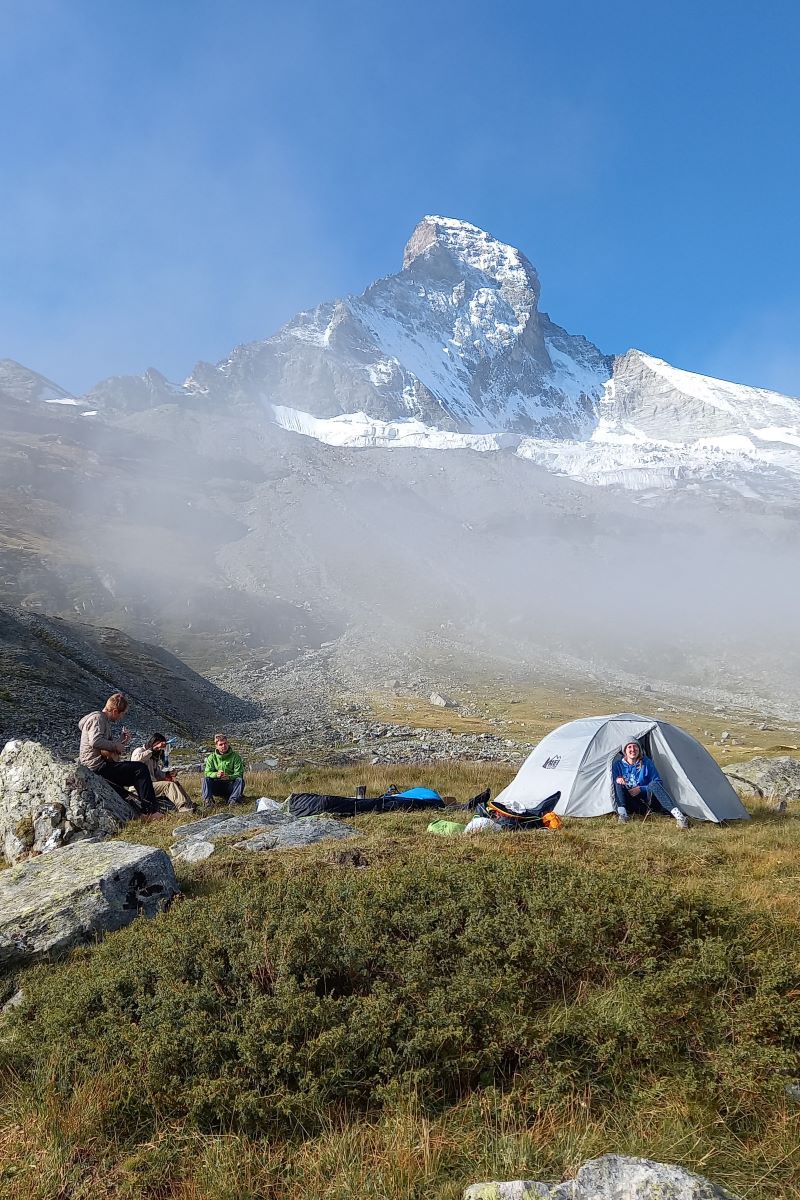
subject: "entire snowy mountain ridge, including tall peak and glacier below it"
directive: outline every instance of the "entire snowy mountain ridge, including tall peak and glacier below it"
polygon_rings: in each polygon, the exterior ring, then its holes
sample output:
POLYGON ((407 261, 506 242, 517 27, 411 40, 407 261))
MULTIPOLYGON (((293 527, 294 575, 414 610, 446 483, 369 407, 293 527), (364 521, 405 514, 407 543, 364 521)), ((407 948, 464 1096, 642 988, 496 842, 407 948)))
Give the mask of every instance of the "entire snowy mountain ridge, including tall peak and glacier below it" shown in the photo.
POLYGON ((330 445, 511 449, 595 486, 798 502, 800 401, 637 349, 606 354, 542 312, 540 293, 522 251, 426 216, 399 271, 198 364, 182 384, 151 367, 77 398, 4 360, 0 402, 71 408, 73 425, 180 406, 330 445))

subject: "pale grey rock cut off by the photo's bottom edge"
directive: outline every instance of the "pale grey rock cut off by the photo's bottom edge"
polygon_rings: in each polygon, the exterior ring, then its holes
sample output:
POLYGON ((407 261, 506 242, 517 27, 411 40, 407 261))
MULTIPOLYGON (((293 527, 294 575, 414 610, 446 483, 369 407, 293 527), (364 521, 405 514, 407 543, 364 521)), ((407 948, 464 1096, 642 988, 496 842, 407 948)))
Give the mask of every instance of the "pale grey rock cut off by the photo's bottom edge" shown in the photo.
POLYGON ((566 1183, 474 1183, 464 1200, 736 1200, 702 1175, 649 1158, 604 1154, 566 1183))

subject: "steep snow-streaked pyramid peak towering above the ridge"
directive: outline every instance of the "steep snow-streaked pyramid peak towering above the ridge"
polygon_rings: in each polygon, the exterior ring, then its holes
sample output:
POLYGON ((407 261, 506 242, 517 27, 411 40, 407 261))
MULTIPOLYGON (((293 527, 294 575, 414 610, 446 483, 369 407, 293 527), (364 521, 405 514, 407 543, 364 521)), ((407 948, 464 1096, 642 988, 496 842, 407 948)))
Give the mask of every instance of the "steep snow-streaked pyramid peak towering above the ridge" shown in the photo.
MULTIPOLYGON (((362 414, 463 434, 587 437, 610 359, 540 313, 539 287, 518 250, 428 216, 401 271, 239 347, 218 365, 217 390, 265 403, 278 422, 362 414)), ((187 380, 205 394, 213 383, 206 368, 187 380)))

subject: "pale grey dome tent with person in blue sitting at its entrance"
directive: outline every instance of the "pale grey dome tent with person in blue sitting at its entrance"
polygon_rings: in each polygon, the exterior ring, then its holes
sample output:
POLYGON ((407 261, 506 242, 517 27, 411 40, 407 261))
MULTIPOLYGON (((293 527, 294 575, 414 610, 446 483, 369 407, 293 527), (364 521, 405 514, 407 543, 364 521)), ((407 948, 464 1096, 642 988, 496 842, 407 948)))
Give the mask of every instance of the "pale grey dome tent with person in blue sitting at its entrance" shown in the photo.
POLYGON ((497 797, 515 812, 560 792, 553 811, 596 817, 614 811, 612 763, 636 740, 655 762, 675 804, 694 821, 746 821, 748 812, 716 762, 696 738, 650 716, 585 716, 553 730, 497 797))

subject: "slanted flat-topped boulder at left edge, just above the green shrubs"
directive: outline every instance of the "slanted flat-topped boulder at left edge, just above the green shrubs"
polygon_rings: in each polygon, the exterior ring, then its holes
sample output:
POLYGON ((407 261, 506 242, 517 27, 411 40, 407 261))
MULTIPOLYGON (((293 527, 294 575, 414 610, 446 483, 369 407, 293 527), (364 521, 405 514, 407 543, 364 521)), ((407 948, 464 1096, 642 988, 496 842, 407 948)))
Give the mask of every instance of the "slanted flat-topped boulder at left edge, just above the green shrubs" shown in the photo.
POLYGON ((0 871, 0 966, 154 917, 178 893, 169 856, 126 841, 78 842, 0 871))

